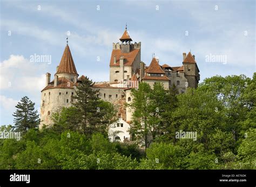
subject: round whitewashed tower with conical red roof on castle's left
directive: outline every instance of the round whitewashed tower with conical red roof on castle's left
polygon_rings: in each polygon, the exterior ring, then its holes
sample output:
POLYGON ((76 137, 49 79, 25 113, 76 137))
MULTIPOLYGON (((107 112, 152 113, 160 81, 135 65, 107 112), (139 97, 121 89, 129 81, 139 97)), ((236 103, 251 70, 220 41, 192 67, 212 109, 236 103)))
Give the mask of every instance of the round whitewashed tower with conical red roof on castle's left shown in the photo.
POLYGON ((41 123, 39 128, 52 124, 51 114, 57 112, 62 107, 72 106, 72 95, 75 94, 78 73, 73 61, 69 45, 67 44, 63 52, 59 66, 51 80, 51 74, 46 73, 46 85, 41 91, 41 123))

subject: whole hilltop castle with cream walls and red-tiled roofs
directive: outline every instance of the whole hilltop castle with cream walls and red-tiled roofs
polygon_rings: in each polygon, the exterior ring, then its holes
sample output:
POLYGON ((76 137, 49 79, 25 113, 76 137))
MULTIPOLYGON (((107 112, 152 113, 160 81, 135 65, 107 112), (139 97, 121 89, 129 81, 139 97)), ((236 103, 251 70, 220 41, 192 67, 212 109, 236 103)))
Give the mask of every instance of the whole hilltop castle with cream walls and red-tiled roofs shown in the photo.
MULTIPOLYGON (((130 140, 129 127, 132 111, 125 103, 132 102, 131 88, 138 88, 139 82, 146 82, 153 87, 161 82, 165 89, 174 84, 179 93, 185 93, 187 87, 196 88, 200 80, 199 68, 195 56, 183 53, 182 66, 171 67, 159 64, 159 59, 152 58, 149 66, 140 59, 141 42, 132 44, 127 28, 119 43, 113 43, 110 58, 110 80, 95 82, 93 89, 98 90, 98 97, 118 106, 118 121, 111 124, 109 136, 111 141, 130 140)), ((46 73, 45 88, 41 91, 41 124, 50 125, 51 114, 62 107, 72 106, 72 95, 76 94, 76 86, 85 78, 78 77, 69 45, 67 44, 57 66, 54 79, 46 73)))

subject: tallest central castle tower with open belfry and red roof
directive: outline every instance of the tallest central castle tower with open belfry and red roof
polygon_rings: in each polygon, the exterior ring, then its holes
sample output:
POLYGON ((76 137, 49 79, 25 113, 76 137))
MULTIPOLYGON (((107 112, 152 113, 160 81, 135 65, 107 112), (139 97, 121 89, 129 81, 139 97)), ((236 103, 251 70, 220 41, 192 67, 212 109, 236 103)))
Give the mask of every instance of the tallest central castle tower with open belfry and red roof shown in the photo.
POLYGON ((125 87, 126 81, 131 80, 132 75, 138 73, 140 68, 141 43, 131 43, 127 26, 120 41, 121 44, 113 43, 110 58, 110 84, 113 87, 125 87))

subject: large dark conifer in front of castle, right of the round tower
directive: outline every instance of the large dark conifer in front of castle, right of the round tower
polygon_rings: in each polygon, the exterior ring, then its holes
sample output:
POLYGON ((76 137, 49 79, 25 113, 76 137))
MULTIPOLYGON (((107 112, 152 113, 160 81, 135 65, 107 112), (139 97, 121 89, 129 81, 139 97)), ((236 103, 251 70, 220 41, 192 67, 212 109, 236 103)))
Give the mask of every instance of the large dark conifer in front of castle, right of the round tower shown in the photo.
POLYGON ((73 106, 79 109, 80 129, 91 136, 93 133, 106 134, 116 114, 112 103, 101 100, 98 90, 93 90, 93 82, 87 77, 79 82, 73 106))

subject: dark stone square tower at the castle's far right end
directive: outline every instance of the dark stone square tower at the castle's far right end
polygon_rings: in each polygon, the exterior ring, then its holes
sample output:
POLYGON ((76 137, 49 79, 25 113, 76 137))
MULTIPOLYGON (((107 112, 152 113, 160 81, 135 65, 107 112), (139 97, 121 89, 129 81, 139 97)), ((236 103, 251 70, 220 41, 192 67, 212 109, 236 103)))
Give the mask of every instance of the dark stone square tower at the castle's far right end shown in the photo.
POLYGON ((183 68, 185 78, 188 82, 188 87, 197 88, 200 80, 199 68, 197 66, 195 56, 192 56, 191 52, 187 55, 183 53, 183 68))

